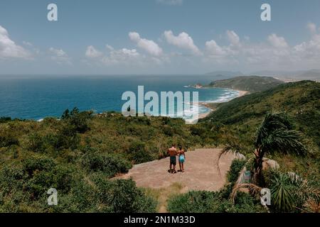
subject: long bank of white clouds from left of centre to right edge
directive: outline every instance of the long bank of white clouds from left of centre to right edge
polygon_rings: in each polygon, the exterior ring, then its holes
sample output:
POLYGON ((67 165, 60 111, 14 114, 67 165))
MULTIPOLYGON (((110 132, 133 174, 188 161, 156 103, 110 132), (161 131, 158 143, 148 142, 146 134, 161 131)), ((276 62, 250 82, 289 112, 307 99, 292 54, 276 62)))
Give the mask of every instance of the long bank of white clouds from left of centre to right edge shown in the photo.
MULTIPOLYGON (((314 26, 316 29, 318 28, 316 25, 314 26)), ((311 31, 314 31, 314 29, 311 31)), ((192 62, 196 62, 194 67, 198 67, 199 64, 208 64, 208 67, 213 67, 213 65, 217 64, 215 66, 242 67, 257 70, 299 70, 299 68, 319 67, 320 34, 317 32, 311 35, 310 40, 297 45, 289 45, 284 37, 276 33, 267 35, 265 39, 257 43, 248 37, 246 38, 246 36, 240 38, 235 31, 231 30, 225 31, 224 34, 218 37, 225 39, 221 40, 221 43, 226 41, 227 44, 220 44, 218 42, 220 39, 208 40, 202 53, 193 43, 193 39, 188 33, 183 32, 174 35, 172 31, 165 31, 162 38, 166 40, 166 43, 188 50, 193 55, 183 52, 170 52, 170 54, 166 55, 161 50, 161 55, 159 56, 159 45, 152 40, 141 38, 139 33, 132 32, 129 33, 129 38, 134 43, 137 43, 138 48, 145 50, 149 55, 139 53, 136 49, 122 48, 117 50, 110 45, 106 45, 107 54, 97 57, 95 62, 100 62, 104 65, 117 65, 118 67, 121 65, 129 67, 137 65, 141 68, 153 67, 164 63, 191 65, 192 62)), ((206 67, 206 65, 203 66, 206 67)))

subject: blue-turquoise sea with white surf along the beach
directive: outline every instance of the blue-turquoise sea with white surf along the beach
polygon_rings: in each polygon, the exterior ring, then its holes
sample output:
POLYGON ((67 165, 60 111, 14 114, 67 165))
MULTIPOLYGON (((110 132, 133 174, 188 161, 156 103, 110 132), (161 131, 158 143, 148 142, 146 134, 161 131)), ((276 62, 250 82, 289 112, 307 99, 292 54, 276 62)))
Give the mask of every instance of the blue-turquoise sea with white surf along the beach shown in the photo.
MULTIPOLYGON (((230 89, 194 89, 189 84, 208 84, 209 76, 1 76, 0 116, 39 120, 61 116, 65 109, 121 111, 122 93, 144 85, 144 92, 199 92, 199 101, 228 101, 238 96, 230 89)), ((199 108, 199 114, 209 111, 199 108)))

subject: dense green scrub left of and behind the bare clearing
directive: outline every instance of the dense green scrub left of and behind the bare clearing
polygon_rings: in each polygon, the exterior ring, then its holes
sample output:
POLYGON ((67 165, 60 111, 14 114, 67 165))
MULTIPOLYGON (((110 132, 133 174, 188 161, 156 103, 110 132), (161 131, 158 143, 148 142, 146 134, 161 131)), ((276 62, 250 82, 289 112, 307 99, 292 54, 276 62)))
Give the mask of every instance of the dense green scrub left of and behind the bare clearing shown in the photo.
POLYGON ((78 109, 60 120, 1 118, 0 211, 155 211, 156 201, 132 180, 110 178, 164 157, 171 143, 196 143, 182 127, 181 119, 92 116, 78 109), (46 203, 51 187, 58 206, 46 203))

